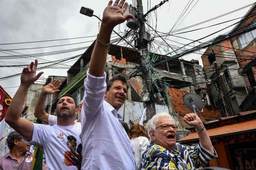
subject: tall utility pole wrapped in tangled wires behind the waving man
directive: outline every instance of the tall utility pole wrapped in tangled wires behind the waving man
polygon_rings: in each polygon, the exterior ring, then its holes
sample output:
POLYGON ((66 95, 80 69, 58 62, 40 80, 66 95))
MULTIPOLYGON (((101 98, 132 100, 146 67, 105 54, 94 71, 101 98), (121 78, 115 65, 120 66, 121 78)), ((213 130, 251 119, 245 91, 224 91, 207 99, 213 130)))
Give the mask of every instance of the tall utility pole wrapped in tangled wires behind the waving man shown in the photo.
POLYGON ((138 11, 138 18, 140 22, 140 33, 139 33, 139 40, 137 40, 140 50, 141 50, 141 56, 140 56, 140 63, 144 65, 147 69, 146 71, 143 71, 143 85, 145 88, 147 88, 146 91, 143 93, 148 93, 148 100, 144 101, 145 106, 147 107, 146 110, 146 117, 147 120, 151 119, 154 115, 156 115, 156 107, 154 103, 154 94, 152 92, 152 78, 150 72, 148 70, 150 69, 150 59, 147 57, 148 55, 148 39, 150 39, 150 34, 146 32, 145 29, 145 18, 143 13, 143 5, 142 0, 137 0, 137 11, 138 11), (146 40, 146 41, 145 41, 146 40))

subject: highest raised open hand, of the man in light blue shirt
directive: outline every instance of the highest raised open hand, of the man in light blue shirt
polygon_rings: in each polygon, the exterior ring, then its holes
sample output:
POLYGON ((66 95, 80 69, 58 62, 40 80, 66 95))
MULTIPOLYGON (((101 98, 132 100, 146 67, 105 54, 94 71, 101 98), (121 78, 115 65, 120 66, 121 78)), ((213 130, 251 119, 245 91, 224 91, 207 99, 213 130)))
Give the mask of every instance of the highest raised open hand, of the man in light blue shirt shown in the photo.
POLYGON ((124 15, 124 11, 127 9, 128 3, 124 3, 125 0, 116 0, 112 6, 113 1, 108 2, 108 6, 105 8, 102 17, 102 23, 113 29, 116 25, 123 23, 125 20, 134 17, 131 14, 124 15))

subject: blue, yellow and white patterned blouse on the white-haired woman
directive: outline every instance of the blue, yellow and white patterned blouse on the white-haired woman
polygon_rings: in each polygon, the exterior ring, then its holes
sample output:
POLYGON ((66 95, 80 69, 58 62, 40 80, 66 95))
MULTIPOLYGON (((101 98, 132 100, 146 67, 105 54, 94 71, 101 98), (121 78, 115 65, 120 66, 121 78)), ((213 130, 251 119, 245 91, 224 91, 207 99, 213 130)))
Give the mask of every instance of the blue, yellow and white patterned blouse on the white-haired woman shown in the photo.
POLYGON ((176 143, 172 152, 157 144, 149 144, 142 154, 141 170, 194 170, 216 158, 218 155, 197 146, 183 146, 176 143))

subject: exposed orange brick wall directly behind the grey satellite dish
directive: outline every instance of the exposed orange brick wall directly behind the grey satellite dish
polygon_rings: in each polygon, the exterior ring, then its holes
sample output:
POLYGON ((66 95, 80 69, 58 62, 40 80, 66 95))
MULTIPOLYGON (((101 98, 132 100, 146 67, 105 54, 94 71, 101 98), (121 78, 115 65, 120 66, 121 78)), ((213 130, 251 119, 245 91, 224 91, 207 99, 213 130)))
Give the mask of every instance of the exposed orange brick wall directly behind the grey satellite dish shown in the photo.
MULTIPOLYGON (((168 88, 169 95, 171 97, 171 104, 173 109, 177 114, 184 116, 188 113, 191 113, 190 110, 183 104, 183 96, 188 93, 186 90, 180 90, 176 88, 168 88)), ((204 111, 202 113, 198 113, 198 116, 201 118, 202 122, 206 122, 207 120, 216 120, 221 117, 218 107, 212 105, 205 105, 204 111)), ((181 119, 182 126, 186 125, 184 121, 181 119)))

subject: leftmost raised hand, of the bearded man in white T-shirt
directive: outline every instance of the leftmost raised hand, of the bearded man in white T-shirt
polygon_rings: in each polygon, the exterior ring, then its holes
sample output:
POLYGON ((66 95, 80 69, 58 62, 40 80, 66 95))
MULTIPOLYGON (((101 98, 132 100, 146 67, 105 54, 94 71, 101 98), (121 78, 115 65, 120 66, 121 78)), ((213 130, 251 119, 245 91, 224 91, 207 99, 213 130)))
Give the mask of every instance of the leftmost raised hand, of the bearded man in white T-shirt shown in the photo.
POLYGON ((44 72, 40 72, 36 75, 37 60, 31 62, 27 67, 24 67, 20 76, 20 84, 30 86, 34 83, 44 72))

